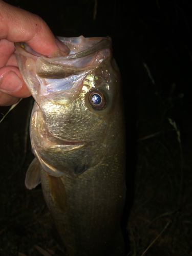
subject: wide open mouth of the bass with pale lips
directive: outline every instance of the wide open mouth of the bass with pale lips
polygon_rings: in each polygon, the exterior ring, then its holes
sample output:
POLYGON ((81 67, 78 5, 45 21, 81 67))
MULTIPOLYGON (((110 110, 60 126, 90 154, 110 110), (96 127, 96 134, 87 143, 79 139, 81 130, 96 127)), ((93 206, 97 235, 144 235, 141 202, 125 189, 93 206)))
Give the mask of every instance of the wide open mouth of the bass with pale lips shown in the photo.
MULTIPOLYGON (((59 39, 62 40, 62 38, 59 39)), ((70 44, 70 41, 66 39, 62 40, 62 44, 71 51, 66 56, 59 55, 50 58, 50 56, 35 53, 26 43, 15 43, 17 58, 19 58, 18 54, 25 56, 25 63, 28 63, 27 70, 33 70, 40 78, 61 79, 94 69, 98 66, 97 53, 101 53, 99 61, 102 62, 103 57, 112 51, 110 36, 95 38, 94 44, 88 44, 87 47, 78 49, 78 51, 73 51, 73 44, 70 44), (105 51, 109 51, 109 53, 106 54, 105 51), (26 60, 29 61, 26 62, 26 60)))

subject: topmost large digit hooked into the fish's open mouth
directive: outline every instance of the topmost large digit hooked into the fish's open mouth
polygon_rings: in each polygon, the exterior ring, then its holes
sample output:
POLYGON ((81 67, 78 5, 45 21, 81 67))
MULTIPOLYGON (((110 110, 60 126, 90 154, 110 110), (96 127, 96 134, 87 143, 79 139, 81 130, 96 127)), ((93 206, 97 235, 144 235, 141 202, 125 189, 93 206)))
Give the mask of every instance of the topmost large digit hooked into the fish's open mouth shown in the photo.
MULTIPOLYGON (((1 38, 11 42, 27 42, 36 52, 51 55, 58 50, 55 36, 39 16, 0 1, 1 38), (11 13, 11 15, 10 15, 11 13)), ((62 51, 68 51, 64 45, 62 51)))

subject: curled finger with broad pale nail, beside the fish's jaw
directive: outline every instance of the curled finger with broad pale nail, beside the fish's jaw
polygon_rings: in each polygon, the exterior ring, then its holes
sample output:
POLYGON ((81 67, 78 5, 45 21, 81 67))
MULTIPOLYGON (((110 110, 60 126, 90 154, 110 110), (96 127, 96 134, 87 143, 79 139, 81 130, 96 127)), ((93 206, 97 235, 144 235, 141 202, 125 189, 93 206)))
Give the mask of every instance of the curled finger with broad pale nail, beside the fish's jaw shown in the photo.
POLYGON ((17 67, 1 68, 0 77, 1 92, 18 98, 26 98, 31 95, 17 67))

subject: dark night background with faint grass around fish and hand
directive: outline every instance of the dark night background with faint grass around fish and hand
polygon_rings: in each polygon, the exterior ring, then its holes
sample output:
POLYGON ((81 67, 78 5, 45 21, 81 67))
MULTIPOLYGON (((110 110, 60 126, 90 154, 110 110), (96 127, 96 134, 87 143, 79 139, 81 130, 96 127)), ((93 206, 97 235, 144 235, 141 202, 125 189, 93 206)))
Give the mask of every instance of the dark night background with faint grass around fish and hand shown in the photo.
MULTIPOLYGON (((112 36, 126 120, 127 255, 191 255, 190 1, 6 2, 55 35, 112 36)), ((24 185, 32 104, 23 99, 0 124, 0 255, 42 255, 35 245, 63 255, 40 185, 24 185)), ((9 108, 0 108, 3 117, 9 108)))

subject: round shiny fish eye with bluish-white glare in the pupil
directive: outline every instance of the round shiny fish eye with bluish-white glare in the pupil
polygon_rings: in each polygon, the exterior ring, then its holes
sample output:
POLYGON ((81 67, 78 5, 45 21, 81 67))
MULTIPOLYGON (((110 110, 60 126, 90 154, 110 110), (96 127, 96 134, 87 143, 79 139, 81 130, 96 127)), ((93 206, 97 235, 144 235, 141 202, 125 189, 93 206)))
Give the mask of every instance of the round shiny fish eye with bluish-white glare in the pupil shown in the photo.
POLYGON ((90 93, 89 101, 95 110, 103 110, 106 106, 106 96, 99 90, 90 93))

